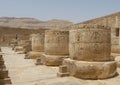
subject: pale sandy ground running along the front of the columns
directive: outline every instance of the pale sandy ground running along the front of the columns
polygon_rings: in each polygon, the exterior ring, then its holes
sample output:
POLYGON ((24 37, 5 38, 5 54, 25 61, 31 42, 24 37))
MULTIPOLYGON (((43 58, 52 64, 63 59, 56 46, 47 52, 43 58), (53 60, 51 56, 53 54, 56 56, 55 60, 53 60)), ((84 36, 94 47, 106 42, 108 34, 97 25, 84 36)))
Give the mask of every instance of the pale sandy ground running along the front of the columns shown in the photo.
POLYGON ((57 77, 58 67, 36 66, 35 60, 24 59, 24 54, 17 54, 11 48, 2 47, 4 60, 12 85, 120 85, 118 76, 103 80, 82 80, 74 77, 57 77))

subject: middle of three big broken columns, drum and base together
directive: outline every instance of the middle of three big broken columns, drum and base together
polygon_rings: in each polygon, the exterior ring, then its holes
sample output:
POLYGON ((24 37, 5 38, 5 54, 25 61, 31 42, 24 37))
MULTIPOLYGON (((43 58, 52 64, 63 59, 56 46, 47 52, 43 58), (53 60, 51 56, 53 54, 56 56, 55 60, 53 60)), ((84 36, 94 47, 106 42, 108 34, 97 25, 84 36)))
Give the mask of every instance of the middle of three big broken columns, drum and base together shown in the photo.
POLYGON ((48 66, 62 64, 69 54, 69 32, 62 30, 45 31, 45 53, 41 57, 41 63, 48 66))

